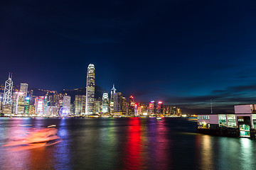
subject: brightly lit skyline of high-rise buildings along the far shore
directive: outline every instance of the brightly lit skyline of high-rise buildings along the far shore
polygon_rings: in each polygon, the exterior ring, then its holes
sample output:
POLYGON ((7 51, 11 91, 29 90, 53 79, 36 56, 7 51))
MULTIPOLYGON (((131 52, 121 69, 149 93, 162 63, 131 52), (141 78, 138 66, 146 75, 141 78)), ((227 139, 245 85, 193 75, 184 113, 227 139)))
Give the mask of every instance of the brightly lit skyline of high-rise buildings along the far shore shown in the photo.
POLYGON ((134 96, 126 98, 117 92, 114 85, 110 93, 103 93, 95 98, 95 66, 87 67, 87 82, 85 95, 71 96, 58 94, 57 91, 47 91, 45 96, 33 96, 28 91, 28 84, 21 84, 19 90, 13 89, 12 76, 4 85, 4 94, 0 96, 1 114, 7 116, 164 116, 181 115, 181 109, 175 106, 164 106, 159 101, 151 101, 149 105, 136 103, 134 96), (73 99, 74 100, 74 99, 73 99))

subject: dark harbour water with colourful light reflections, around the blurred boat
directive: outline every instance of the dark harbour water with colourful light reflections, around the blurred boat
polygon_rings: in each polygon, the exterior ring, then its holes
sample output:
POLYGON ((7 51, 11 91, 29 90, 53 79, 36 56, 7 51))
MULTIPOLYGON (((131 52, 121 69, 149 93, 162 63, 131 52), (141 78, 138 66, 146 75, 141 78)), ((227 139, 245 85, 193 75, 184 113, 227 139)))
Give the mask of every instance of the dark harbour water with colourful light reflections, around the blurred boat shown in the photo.
POLYGON ((196 133, 186 118, 0 118, 0 169, 256 169, 256 141, 196 133), (49 125, 61 141, 4 147, 49 125))

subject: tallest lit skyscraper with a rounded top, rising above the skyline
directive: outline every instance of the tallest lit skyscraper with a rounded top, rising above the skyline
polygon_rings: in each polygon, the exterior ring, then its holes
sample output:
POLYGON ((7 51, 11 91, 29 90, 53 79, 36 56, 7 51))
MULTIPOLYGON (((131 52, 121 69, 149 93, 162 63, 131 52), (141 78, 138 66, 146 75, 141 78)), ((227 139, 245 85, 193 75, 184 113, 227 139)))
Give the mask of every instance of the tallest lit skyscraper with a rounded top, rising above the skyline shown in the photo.
POLYGON ((95 66, 94 64, 89 64, 87 68, 85 115, 93 114, 94 98, 95 98, 95 66))

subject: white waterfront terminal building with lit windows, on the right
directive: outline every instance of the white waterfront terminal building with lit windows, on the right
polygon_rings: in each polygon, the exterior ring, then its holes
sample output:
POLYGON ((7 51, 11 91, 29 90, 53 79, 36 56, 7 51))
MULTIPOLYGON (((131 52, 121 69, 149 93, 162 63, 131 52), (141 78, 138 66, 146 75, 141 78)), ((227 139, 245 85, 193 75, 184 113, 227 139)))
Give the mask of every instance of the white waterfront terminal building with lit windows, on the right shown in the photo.
POLYGON ((198 115, 198 132, 255 139, 256 104, 234 106, 233 114, 198 115))

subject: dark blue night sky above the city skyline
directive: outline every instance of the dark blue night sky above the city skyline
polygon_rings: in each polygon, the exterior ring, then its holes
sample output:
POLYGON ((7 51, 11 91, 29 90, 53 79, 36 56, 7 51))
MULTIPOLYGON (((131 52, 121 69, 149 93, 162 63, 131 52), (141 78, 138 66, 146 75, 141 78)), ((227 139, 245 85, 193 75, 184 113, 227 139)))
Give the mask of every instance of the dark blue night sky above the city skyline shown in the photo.
POLYGON ((256 1, 1 1, 0 84, 115 84, 183 113, 256 103, 256 1))

